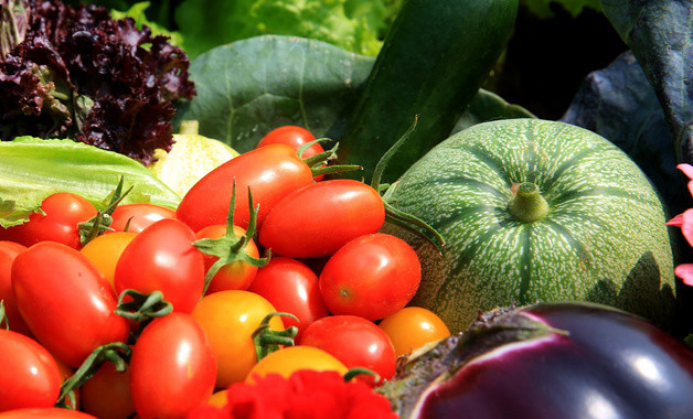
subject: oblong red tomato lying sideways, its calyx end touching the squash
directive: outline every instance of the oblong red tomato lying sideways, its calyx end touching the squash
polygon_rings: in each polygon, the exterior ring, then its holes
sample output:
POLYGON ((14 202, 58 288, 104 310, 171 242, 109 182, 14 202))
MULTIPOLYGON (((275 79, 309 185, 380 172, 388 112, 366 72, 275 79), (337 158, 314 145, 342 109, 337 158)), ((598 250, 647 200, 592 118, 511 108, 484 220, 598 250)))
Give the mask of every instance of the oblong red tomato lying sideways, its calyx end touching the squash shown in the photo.
POLYGON ((365 183, 337 179, 310 184, 277 203, 259 243, 277 255, 332 255, 350 240, 377 232, 385 222, 381 195, 365 183))

